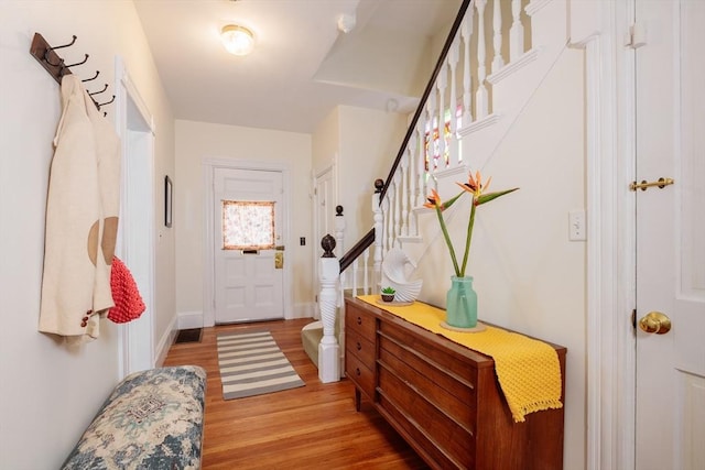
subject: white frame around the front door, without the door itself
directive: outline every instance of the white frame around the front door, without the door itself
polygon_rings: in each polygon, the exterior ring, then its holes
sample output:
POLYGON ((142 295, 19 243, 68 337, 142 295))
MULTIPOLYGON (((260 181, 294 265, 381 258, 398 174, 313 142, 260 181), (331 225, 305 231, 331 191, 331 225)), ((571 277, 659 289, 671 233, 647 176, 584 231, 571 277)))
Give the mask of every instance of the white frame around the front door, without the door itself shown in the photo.
POLYGON ((203 188, 204 188, 204 252, 203 252, 203 326, 212 327, 216 324, 216 295, 215 295, 215 250, 213 205, 214 173, 216 168, 226 170, 250 170, 280 172, 282 174, 282 186, 284 194, 282 197, 282 239, 284 241, 284 272, 283 272, 283 302, 284 319, 293 318, 293 289, 292 289, 292 260, 291 253, 293 244, 291 239, 291 168, 286 162, 259 162, 247 160, 234 160, 223 157, 207 157, 202 162, 203 188), (288 261, 289 259, 289 261, 288 261))

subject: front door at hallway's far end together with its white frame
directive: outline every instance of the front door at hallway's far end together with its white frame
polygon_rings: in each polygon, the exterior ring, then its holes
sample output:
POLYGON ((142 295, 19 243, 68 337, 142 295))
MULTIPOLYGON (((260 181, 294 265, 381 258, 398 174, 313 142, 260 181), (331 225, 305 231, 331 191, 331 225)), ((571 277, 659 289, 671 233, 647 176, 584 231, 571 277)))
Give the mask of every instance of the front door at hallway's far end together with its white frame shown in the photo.
POLYGON ((204 162, 204 187, 209 188, 204 210, 204 326, 292 318, 292 270, 286 262, 290 175, 284 163, 204 162), (257 217, 245 216, 246 222, 237 222, 248 210, 257 217), (265 231, 270 243, 242 244, 238 237, 249 236, 240 228, 252 228, 251 223, 261 230, 250 236, 265 231), (228 225, 236 230, 224 230, 228 225))

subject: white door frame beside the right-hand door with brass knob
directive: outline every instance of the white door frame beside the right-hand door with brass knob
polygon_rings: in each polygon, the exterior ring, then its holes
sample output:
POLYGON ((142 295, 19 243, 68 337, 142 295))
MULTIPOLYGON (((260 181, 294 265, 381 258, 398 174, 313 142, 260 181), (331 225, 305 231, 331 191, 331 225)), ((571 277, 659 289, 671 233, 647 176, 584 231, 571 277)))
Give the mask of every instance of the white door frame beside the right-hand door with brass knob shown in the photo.
POLYGON ((636 70, 625 36, 634 4, 575 7, 571 46, 585 50, 586 74, 586 468, 633 469, 636 197, 629 182, 636 163, 636 70))

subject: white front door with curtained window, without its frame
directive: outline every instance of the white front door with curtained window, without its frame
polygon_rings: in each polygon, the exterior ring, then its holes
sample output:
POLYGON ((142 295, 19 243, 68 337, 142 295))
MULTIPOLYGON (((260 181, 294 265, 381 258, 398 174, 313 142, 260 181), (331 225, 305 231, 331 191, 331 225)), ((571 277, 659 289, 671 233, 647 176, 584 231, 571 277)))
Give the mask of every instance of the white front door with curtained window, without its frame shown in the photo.
POLYGON ((216 324, 284 317, 282 173, 215 168, 216 324))

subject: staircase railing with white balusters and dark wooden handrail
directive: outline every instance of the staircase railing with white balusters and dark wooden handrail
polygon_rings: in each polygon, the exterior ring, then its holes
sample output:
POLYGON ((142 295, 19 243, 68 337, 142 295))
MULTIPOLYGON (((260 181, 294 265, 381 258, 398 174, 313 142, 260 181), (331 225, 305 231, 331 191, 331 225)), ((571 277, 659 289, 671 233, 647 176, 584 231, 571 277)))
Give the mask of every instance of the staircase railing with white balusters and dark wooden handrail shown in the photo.
MULTIPOLYGON (((343 306, 343 293, 350 282, 352 295, 372 293, 381 278, 384 253, 420 240, 417 215, 430 188, 437 189, 437 182, 448 176, 465 181, 468 168, 467 162, 463 162, 460 139, 499 119, 488 85, 500 81, 512 67, 530 62, 532 58, 528 56, 535 56, 535 51, 527 52, 524 28, 531 25, 533 12, 552 1, 557 0, 531 0, 522 10, 521 0, 463 0, 390 172, 383 182, 376 182, 375 226, 340 258, 338 274, 346 284, 339 277, 335 282, 334 309, 343 306), (487 8, 488 3, 491 8, 487 8), (486 34, 486 28, 490 34, 486 34), (486 36, 491 36, 491 43, 486 42, 486 36), (345 274, 349 266, 354 266, 351 278, 345 274)), ((330 287, 330 281, 326 282, 330 287)), ((323 286, 322 277, 322 296, 323 286)), ((335 337, 326 339, 326 335, 334 335, 335 313, 324 314, 323 304, 321 308, 324 339, 332 345, 335 337), (325 318, 332 318, 330 325, 326 325, 325 318)), ((340 370, 339 361, 333 357, 326 361, 321 358, 319 353, 319 371, 326 367, 323 362, 336 362, 336 371, 340 370)))

